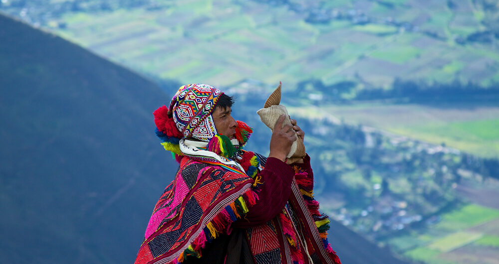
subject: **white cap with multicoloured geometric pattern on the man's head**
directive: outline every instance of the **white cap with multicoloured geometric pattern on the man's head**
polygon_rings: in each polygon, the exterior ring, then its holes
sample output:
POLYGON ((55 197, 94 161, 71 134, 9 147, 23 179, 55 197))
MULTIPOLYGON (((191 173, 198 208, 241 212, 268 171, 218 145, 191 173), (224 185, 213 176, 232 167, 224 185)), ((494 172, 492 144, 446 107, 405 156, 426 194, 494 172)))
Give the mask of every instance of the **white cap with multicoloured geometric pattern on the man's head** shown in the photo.
POLYGON ((189 84, 179 88, 169 110, 185 138, 209 141, 217 134, 212 113, 222 94, 222 91, 207 84, 189 84))

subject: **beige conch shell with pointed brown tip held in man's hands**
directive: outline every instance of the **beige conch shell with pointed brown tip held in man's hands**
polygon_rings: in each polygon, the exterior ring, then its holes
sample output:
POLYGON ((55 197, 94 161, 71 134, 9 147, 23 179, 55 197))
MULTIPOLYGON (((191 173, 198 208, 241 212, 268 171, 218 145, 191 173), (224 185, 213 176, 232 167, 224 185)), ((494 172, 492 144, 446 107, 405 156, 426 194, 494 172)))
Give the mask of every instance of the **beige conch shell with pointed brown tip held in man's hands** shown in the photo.
MULTIPOLYGON (((275 88, 270 96, 268 96, 263 108, 256 112, 256 114, 260 116, 261 122, 263 122, 263 124, 265 124, 272 131, 274 129, 275 123, 277 123, 277 120, 282 114, 284 114, 285 116, 283 125, 291 124, 286 107, 284 107, 283 105, 279 105, 281 99, 281 85, 282 83, 279 83, 279 86, 275 88)), ((294 163, 297 160, 305 157, 305 155, 305 145, 303 144, 303 139, 297 137, 297 139, 291 145, 291 150, 287 154, 286 163, 294 163)))

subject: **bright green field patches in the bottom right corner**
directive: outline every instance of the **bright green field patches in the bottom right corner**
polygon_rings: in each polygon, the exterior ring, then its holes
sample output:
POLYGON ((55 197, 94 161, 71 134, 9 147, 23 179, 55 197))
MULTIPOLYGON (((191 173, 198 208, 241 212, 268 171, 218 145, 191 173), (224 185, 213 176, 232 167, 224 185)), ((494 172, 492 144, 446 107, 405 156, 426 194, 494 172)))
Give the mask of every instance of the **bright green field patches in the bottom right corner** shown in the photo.
MULTIPOLYGON (((392 238, 388 244, 407 257, 426 263, 497 264, 499 236, 490 227, 499 221, 499 210, 468 204, 442 216, 424 232, 392 238)), ((497 228, 495 229, 497 232, 497 228)))

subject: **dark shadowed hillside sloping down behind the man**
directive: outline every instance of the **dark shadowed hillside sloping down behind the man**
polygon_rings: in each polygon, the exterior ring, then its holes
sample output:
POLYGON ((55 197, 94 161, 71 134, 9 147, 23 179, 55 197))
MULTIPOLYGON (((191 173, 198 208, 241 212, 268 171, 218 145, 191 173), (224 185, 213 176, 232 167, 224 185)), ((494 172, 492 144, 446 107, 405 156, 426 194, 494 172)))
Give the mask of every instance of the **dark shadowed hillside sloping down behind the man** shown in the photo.
MULTIPOLYGON (((177 167, 151 130, 169 98, 3 15, 0 38, 0 262, 131 263, 177 167)), ((343 263, 403 263, 332 225, 343 263)))

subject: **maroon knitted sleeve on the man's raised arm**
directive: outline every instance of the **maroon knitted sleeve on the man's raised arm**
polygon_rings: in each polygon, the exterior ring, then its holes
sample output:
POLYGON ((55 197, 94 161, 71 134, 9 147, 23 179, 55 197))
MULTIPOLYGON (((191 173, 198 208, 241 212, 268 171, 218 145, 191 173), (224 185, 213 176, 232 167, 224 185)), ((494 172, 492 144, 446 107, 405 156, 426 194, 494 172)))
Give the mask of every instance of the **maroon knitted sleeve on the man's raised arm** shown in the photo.
POLYGON ((269 157, 258 175, 263 181, 259 186, 258 200, 243 219, 232 224, 235 228, 249 228, 270 221, 282 211, 289 199, 294 176, 291 166, 278 158, 269 157))

